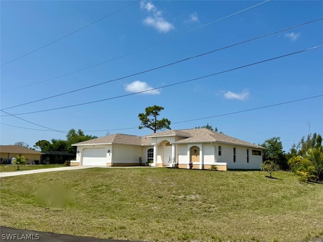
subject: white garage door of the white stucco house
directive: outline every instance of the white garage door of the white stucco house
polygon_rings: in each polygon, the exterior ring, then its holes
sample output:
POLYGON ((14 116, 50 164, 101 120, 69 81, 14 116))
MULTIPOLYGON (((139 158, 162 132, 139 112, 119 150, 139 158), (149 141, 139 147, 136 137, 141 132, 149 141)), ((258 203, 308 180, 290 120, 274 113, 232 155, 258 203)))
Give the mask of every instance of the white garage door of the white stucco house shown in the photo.
POLYGON ((88 148, 83 150, 83 165, 106 166, 105 148, 88 148))

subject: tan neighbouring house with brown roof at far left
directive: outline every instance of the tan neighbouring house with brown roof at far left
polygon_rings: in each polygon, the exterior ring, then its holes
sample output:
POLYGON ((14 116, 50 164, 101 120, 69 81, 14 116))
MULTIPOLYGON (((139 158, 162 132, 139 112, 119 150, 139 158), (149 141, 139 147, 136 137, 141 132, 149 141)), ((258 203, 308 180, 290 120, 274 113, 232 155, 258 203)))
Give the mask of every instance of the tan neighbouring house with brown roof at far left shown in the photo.
POLYGON ((26 158, 26 164, 39 164, 42 153, 19 145, 0 145, 0 158, 2 164, 10 164, 12 158, 22 155, 26 158))

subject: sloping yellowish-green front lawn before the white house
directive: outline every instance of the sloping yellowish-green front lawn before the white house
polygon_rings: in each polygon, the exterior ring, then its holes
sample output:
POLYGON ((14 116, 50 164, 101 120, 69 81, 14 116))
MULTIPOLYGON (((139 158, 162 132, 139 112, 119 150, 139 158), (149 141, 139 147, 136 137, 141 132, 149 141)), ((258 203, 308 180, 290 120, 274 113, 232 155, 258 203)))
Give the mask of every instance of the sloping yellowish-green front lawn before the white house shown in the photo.
POLYGON ((5 177, 1 225, 148 241, 323 238, 323 184, 288 172, 91 168, 5 177), (64 209, 37 204, 46 184, 75 193, 64 209))

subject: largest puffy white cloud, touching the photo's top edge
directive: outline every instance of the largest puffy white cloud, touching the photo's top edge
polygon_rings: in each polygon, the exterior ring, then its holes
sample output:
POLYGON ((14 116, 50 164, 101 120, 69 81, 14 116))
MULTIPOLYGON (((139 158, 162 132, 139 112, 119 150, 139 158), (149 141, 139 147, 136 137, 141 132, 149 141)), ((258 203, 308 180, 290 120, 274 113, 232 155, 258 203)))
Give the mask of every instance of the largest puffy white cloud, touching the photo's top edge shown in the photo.
POLYGON ((157 8, 150 2, 140 2, 140 9, 146 10, 151 13, 150 16, 143 20, 143 24, 151 26, 158 30, 160 33, 167 33, 174 29, 173 24, 163 18, 163 12, 158 11, 157 8))

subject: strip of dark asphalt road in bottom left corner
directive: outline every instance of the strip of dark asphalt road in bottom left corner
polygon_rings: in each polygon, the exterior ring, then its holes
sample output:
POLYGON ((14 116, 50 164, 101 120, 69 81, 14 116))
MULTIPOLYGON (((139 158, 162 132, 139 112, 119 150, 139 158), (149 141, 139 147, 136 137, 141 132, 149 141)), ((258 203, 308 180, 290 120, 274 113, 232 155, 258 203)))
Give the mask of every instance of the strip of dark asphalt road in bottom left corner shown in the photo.
MULTIPOLYGON (((0 226, 0 241, 19 242, 136 242, 130 240, 102 239, 93 237, 74 236, 58 233, 45 233, 27 229, 0 226)), ((138 241, 137 241, 138 242, 138 241)))

